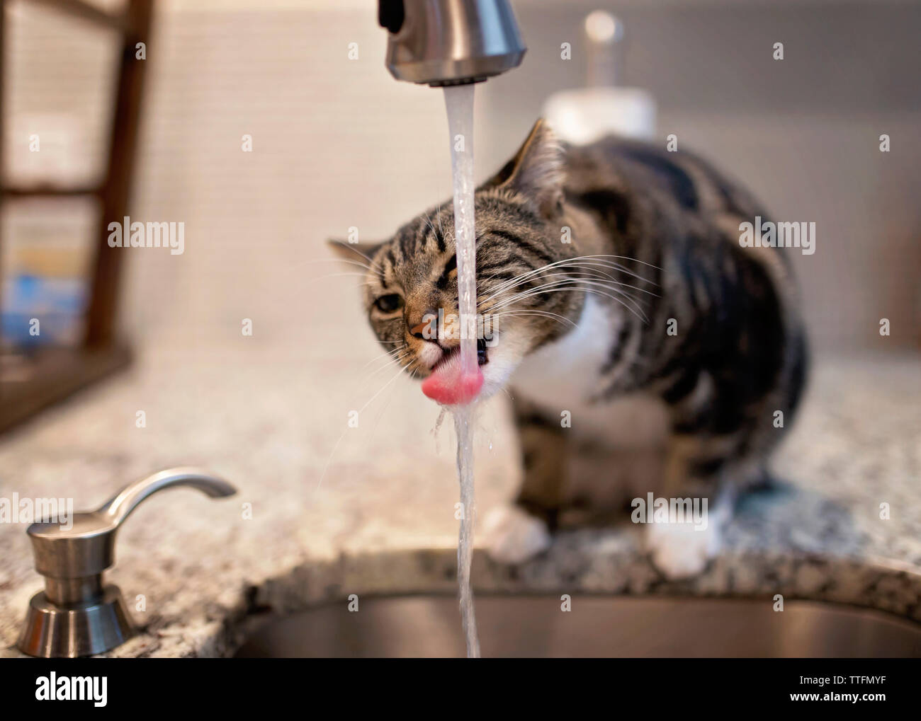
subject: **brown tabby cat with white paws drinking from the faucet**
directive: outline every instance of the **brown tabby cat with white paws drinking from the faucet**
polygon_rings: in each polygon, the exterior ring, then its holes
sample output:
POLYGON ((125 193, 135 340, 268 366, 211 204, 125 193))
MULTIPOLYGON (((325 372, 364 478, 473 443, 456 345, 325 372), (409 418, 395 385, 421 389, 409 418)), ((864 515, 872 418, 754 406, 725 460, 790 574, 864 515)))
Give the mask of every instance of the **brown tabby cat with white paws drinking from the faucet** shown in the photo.
MULTIPOLYGON (((787 251, 740 244, 768 213, 694 154, 562 143, 542 120, 474 208, 481 397, 511 396, 524 466, 484 521, 487 553, 524 562, 618 509, 647 521, 652 493, 705 504, 705 528, 645 528, 663 576, 701 572, 740 491, 769 479, 805 383, 787 251)), ((331 241, 367 270, 370 325, 417 378, 460 344, 426 332, 457 313, 453 229, 444 202, 382 243, 331 241)))

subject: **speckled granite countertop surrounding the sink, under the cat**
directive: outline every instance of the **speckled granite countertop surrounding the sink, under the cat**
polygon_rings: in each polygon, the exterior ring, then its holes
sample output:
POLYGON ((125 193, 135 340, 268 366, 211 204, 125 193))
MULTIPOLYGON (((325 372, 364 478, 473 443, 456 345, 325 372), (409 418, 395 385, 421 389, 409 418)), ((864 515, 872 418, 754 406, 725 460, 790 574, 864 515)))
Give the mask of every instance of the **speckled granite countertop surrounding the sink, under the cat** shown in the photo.
MULTIPOLYGON (((238 486, 219 501, 170 490, 126 522, 107 579, 143 632, 109 655, 223 656, 257 609, 291 612, 351 593, 455 592, 450 424, 433 438, 437 408, 408 381, 384 385, 389 372, 352 383, 371 355, 321 353, 145 349, 129 372, 0 441, 0 497, 73 497, 77 510, 93 509, 130 481, 186 464, 238 486), (348 409, 361 411, 357 429, 347 426, 348 409)), ((504 399, 490 402, 479 425, 482 518, 511 497, 519 470, 504 399)), ((785 485, 743 502, 701 576, 661 578, 628 523, 562 533, 521 566, 497 566, 478 551, 474 589, 781 593, 921 621, 919 441, 918 356, 819 360, 775 463, 785 485)), ((42 587, 25 530, 0 524, 0 655, 17 655, 29 597, 42 587)))

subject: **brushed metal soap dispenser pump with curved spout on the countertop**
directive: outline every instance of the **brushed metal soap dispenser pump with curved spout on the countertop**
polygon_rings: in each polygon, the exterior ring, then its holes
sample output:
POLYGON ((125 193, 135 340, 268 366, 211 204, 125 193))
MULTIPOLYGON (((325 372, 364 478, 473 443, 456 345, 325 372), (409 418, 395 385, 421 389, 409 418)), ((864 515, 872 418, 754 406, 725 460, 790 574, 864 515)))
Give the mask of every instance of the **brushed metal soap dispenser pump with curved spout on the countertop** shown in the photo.
POLYGON ((75 658, 121 646, 137 633, 117 586, 102 585, 115 563, 115 533, 157 491, 191 486, 211 498, 233 496, 227 481, 191 468, 170 468, 124 486, 99 509, 75 513, 70 528, 32 523, 27 532, 45 589, 29 601, 17 647, 29 656, 75 658))

